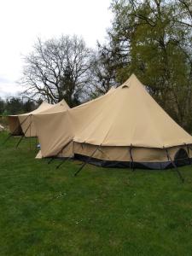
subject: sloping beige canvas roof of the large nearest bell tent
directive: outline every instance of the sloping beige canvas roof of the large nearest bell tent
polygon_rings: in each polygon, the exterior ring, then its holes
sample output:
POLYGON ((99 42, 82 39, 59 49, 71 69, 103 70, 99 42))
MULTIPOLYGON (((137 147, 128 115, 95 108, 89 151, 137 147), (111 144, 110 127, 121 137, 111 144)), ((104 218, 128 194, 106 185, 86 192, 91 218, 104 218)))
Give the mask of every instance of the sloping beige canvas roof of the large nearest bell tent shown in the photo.
POLYGON ((79 143, 147 148, 192 143, 192 137, 160 108, 134 74, 112 93, 73 108, 71 114, 74 125, 80 119, 83 123, 73 138, 79 143))

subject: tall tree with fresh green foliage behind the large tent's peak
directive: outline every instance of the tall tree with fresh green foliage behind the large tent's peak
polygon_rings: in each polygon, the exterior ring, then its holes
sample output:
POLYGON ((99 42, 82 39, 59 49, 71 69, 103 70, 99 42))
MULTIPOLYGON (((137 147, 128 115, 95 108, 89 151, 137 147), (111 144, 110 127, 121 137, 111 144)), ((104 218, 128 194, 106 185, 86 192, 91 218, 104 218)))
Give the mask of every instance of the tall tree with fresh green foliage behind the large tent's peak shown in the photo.
POLYGON ((155 100, 190 130, 192 20, 181 2, 113 1, 109 37, 122 63, 119 82, 136 73, 155 100))

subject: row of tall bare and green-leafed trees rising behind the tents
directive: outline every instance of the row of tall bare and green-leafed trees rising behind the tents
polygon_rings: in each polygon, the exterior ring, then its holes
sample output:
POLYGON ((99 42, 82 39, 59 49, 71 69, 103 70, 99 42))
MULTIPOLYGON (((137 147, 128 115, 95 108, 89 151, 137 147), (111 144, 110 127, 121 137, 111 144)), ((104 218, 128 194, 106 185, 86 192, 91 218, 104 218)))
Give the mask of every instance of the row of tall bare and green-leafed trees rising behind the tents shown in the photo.
MULTIPOLYGON (((113 0, 108 41, 90 49, 77 36, 40 38, 25 58, 24 95, 70 107, 135 73, 148 92, 192 131, 191 0, 113 0)), ((134 111, 134 110, 133 110, 134 111)))

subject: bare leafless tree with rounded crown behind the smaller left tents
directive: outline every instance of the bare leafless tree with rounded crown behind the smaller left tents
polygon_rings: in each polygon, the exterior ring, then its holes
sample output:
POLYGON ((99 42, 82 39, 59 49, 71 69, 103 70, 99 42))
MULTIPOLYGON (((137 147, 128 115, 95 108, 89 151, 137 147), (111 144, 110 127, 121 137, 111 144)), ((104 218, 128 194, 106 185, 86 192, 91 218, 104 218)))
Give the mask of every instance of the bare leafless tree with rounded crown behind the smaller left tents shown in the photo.
POLYGON ((43 42, 38 39, 31 54, 25 57, 21 83, 24 94, 48 102, 65 99, 70 106, 79 103, 90 83, 92 50, 82 38, 61 36, 43 42))

